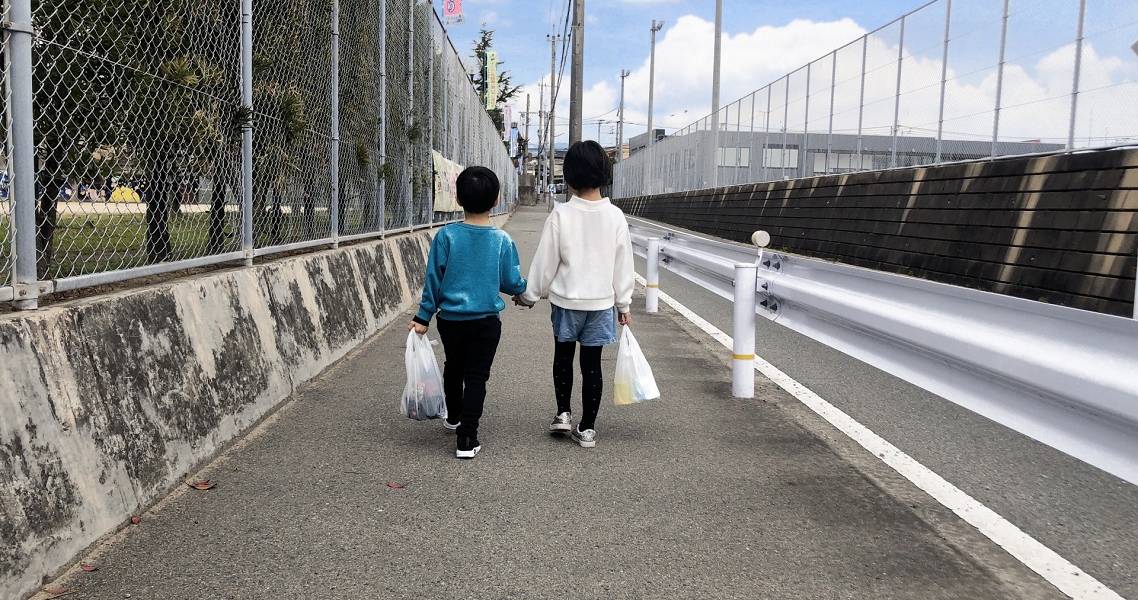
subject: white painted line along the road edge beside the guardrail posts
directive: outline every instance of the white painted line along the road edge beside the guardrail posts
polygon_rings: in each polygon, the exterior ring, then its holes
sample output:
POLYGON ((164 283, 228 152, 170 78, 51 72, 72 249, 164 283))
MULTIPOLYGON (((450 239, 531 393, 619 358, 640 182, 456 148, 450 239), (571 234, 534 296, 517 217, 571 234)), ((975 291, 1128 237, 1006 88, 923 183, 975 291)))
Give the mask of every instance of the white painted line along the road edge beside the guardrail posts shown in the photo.
MULTIPOLYGON (((644 285, 644 278, 640 276, 636 276, 636 281, 641 286, 644 285)), ((684 306, 668 294, 661 291, 660 299, 684 315, 695 327, 699 327, 714 337, 727 347, 727 350, 731 350, 731 336, 692 312, 691 309, 684 306)), ((790 395, 798 398, 799 402, 806 404, 810 410, 828 421, 830 425, 836 427, 841 433, 872 452, 873 455, 881 459, 885 465, 889 465, 906 479, 913 482, 914 485, 924 490, 925 493, 979 529, 980 533, 1019 559, 1028 568, 1038 573, 1039 576, 1047 580, 1048 583, 1057 587, 1061 592, 1075 600, 1124 600, 1116 592, 1103 585, 1102 582, 1091 577, 1050 548, 1041 544, 1038 540, 997 515, 992 509, 981 504, 959 487, 948 483, 943 477, 933 472, 932 469, 901 452, 900 449, 871 431, 866 426, 842 412, 841 409, 826 402, 811 392, 810 388, 778 370, 777 367, 760 357, 756 357, 754 370, 762 373, 764 377, 775 383, 778 387, 785 389, 790 395)))

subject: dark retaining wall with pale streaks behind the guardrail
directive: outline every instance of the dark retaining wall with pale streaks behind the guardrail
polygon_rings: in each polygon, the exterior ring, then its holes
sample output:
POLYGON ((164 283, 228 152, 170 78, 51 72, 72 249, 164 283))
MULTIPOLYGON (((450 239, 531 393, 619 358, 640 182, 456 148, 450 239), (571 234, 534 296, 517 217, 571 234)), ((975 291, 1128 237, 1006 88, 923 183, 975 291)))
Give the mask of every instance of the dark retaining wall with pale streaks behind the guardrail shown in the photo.
POLYGON ((828 175, 624 198, 736 241, 1130 317, 1138 150, 828 175))

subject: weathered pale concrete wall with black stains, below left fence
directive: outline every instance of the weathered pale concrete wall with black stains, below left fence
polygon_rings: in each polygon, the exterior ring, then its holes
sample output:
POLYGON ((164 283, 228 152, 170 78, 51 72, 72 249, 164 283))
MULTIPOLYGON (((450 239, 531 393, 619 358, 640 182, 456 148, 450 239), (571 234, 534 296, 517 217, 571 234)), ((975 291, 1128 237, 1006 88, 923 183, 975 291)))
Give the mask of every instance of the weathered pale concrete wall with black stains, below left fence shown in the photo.
POLYGON ((0 598, 35 590, 409 307, 430 236, 0 318, 0 598))

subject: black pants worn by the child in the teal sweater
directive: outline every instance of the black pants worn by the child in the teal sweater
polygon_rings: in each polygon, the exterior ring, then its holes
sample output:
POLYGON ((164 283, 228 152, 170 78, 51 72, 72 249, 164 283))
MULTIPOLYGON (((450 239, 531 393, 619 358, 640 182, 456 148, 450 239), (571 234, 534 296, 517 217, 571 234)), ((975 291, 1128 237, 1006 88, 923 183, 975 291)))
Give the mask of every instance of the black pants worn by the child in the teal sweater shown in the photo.
POLYGON ((446 351, 443 388, 447 420, 462 421, 459 436, 477 437, 486 402, 486 380, 502 338, 502 321, 497 317, 472 321, 438 319, 438 335, 446 351))

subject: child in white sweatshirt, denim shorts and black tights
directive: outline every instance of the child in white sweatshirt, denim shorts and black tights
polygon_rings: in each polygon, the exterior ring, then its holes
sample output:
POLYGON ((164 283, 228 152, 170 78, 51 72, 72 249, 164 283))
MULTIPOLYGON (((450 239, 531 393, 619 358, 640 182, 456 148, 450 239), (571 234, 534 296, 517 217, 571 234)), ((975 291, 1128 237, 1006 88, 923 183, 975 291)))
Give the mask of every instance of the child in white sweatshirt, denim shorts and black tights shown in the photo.
POLYGON ((566 153, 566 183, 572 198, 553 208, 529 268, 526 293, 514 301, 553 305, 554 433, 570 431, 582 447, 596 445, 596 413, 604 379, 601 351, 617 340, 617 322, 629 324, 633 246, 625 213, 601 196, 612 183, 612 163, 595 141, 579 141, 566 153), (619 313, 619 317, 618 314, 619 313), (582 418, 572 426, 572 359, 580 344, 582 418))

